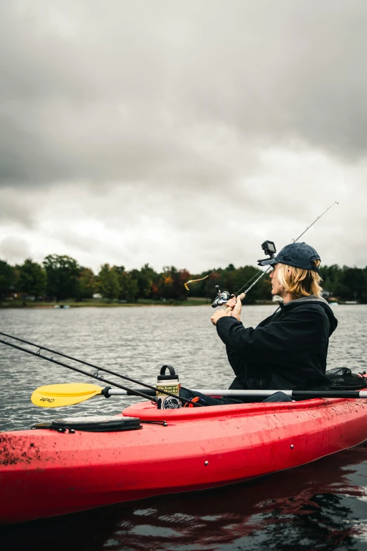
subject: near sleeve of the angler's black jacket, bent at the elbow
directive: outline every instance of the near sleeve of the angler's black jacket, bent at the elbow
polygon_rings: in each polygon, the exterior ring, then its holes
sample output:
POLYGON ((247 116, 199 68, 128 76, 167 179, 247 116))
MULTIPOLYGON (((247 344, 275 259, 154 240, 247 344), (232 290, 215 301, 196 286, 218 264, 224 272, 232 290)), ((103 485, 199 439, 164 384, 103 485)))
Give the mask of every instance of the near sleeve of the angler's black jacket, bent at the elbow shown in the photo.
MULTIPOLYGON (((234 355, 244 360, 269 361, 272 355, 300 352, 309 346, 309 339, 325 338, 325 322, 321 312, 297 308, 287 317, 255 329, 245 328, 234 317, 221 317, 217 333, 234 355)), ((229 358, 228 358, 229 359, 229 358)))

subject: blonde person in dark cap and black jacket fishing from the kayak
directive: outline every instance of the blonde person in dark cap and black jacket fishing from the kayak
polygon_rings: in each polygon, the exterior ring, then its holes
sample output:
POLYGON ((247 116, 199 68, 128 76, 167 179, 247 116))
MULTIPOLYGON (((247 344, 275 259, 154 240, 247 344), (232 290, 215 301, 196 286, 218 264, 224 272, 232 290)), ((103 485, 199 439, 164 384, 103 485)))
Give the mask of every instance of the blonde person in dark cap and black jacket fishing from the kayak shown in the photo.
MULTIPOLYGON (((318 253, 307 243, 291 243, 275 258, 261 262, 263 266, 273 267, 271 293, 283 298, 283 303, 255 329, 244 326, 241 301, 236 298, 227 303, 233 307, 231 312, 214 312, 212 323, 226 345, 228 361, 236 374, 229 388, 328 388, 326 356, 337 319, 321 297, 320 262, 318 253)), ((277 394, 272 401, 290 399, 284 393, 277 394)), ((256 398, 241 401, 256 401, 256 398)), ((221 398, 221 403, 231 403, 231 400, 221 398)))

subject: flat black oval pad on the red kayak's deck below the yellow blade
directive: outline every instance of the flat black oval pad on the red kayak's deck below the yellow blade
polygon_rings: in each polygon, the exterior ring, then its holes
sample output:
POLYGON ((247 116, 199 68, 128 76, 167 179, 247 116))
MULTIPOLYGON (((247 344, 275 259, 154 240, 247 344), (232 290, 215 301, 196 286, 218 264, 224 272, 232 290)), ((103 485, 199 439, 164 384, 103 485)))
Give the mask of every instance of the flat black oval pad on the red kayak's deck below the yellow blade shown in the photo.
POLYGON ((63 417, 47 423, 37 423, 32 429, 53 429, 59 432, 115 432, 142 429, 139 417, 116 415, 89 415, 86 417, 63 417))

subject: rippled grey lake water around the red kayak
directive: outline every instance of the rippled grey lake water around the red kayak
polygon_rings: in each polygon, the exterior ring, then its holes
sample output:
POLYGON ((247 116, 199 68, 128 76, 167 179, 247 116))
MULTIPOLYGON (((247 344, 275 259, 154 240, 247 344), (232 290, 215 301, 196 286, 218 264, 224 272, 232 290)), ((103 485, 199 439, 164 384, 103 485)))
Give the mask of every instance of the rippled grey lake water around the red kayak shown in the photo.
MULTIPOLYGON (((328 368, 367 371, 367 306, 334 308, 339 326, 328 368)), ((254 327, 274 310, 244 307, 243 322, 254 327)), ((207 306, 0 310, 0 331, 151 384, 169 363, 184 386, 228 388, 233 375, 211 313, 207 306)), ((62 382, 94 381, 0 343, 0 429, 66 411, 115 414, 135 401, 95 398, 65 410, 32 405, 35 388, 62 382)), ((4 551, 367 550, 367 444, 226 488, 6 526, 0 541, 4 551)))

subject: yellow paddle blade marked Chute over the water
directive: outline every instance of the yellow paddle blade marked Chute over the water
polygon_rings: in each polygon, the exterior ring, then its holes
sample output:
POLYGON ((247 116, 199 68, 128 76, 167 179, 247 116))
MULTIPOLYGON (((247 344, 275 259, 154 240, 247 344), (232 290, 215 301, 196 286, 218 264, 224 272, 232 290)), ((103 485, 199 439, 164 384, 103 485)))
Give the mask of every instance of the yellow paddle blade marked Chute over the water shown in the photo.
POLYGON ((103 388, 89 383, 49 384, 37 388, 31 396, 32 403, 39 407, 61 407, 79 404, 101 394, 103 388))

